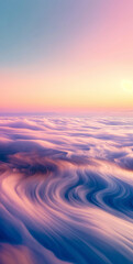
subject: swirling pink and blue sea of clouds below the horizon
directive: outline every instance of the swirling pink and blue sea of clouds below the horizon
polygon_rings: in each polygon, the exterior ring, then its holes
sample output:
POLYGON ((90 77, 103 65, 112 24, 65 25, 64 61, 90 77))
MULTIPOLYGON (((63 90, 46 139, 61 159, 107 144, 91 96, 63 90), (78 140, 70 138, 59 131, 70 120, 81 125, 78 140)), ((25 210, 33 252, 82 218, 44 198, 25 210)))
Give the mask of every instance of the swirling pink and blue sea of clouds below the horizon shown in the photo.
POLYGON ((133 263, 133 119, 0 118, 0 263, 133 263))

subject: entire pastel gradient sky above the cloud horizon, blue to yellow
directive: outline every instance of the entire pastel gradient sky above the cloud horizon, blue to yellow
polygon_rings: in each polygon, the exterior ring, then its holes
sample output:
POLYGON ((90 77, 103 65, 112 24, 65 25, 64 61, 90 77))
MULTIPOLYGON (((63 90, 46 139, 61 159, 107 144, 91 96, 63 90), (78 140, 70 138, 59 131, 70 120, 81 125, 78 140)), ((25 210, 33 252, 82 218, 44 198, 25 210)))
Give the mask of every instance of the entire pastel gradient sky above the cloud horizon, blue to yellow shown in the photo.
POLYGON ((0 0, 0 111, 133 109, 132 0, 0 0))

